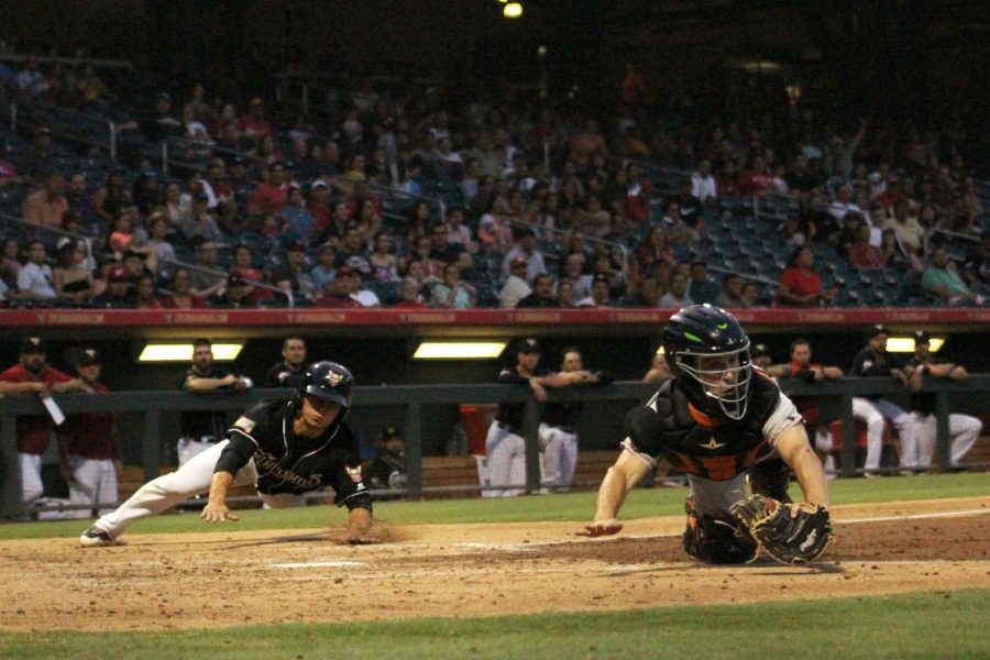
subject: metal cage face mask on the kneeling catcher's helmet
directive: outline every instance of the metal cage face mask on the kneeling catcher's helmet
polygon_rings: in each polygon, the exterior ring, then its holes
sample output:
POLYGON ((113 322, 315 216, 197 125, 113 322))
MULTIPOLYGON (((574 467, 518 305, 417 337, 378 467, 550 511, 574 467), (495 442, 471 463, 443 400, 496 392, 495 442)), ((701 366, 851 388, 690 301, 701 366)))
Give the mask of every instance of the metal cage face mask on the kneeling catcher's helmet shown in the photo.
POLYGON ((749 360, 749 342, 741 349, 724 353, 678 351, 678 366, 685 376, 701 385, 705 397, 729 419, 743 419, 746 415, 749 381, 752 376, 749 360))

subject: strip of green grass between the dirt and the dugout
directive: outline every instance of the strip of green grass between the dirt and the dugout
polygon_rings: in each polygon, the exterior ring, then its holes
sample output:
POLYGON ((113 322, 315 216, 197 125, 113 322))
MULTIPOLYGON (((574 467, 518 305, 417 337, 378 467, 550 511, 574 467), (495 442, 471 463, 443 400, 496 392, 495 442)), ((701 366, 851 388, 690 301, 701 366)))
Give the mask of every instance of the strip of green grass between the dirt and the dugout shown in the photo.
MULTIPOLYGON (((796 485, 792 492, 800 492, 796 485)), ((836 480, 829 484, 834 504, 862 504, 906 499, 938 499, 990 494, 990 474, 933 474, 877 480, 836 480)), ((629 495, 622 518, 646 518, 684 513, 684 488, 641 488, 629 495)), ((521 522, 586 520, 594 513, 594 493, 572 493, 507 499, 441 499, 431 502, 383 502, 375 517, 393 525, 455 522, 521 522)), ((332 506, 297 509, 245 510, 234 529, 300 529, 342 525, 345 515, 332 506)), ((0 525, 0 539, 73 538, 88 526, 86 520, 0 525)), ((216 531, 196 514, 163 515, 128 529, 134 534, 216 531)))

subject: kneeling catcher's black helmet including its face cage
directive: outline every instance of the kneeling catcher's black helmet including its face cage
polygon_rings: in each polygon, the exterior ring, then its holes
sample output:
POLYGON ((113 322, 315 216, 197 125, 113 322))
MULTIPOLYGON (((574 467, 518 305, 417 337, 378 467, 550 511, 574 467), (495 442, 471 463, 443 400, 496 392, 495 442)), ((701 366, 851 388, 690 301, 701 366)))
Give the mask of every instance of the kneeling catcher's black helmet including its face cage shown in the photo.
POLYGON ((702 411, 741 419, 752 375, 749 338, 736 317, 708 304, 685 307, 663 329, 667 365, 702 411))

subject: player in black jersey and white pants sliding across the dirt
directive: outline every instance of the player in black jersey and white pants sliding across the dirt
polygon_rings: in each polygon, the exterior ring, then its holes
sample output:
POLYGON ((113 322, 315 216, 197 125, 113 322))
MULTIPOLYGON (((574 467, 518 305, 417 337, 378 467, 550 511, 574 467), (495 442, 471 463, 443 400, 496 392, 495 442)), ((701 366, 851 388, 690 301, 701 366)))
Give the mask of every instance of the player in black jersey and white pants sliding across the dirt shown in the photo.
POLYGON ((189 497, 209 493, 200 517, 237 521, 227 506, 232 485, 254 485, 272 508, 302 504, 302 495, 333 487, 338 506, 350 510, 346 540, 371 542, 371 495, 361 474, 354 433, 344 424, 354 377, 334 362, 316 362, 302 374, 289 400, 255 404, 227 431, 227 439, 176 472, 138 490, 120 507, 82 532, 82 547, 111 546, 127 527, 161 514, 189 497))

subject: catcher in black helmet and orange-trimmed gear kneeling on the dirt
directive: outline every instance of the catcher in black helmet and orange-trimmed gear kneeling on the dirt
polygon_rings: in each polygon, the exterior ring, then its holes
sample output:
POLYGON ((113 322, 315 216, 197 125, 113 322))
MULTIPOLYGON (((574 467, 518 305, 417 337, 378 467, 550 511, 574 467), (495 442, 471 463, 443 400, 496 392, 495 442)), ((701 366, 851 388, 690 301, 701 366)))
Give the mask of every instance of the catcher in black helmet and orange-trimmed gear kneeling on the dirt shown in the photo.
POLYGON ((794 404, 750 364, 739 321, 711 305, 686 307, 671 317, 662 344, 674 377, 627 416, 594 521, 578 534, 618 532, 626 496, 664 458, 688 474, 690 557, 744 563, 763 548, 785 563, 817 558, 832 540, 825 473, 794 404), (788 494, 791 470, 804 503, 788 494))

